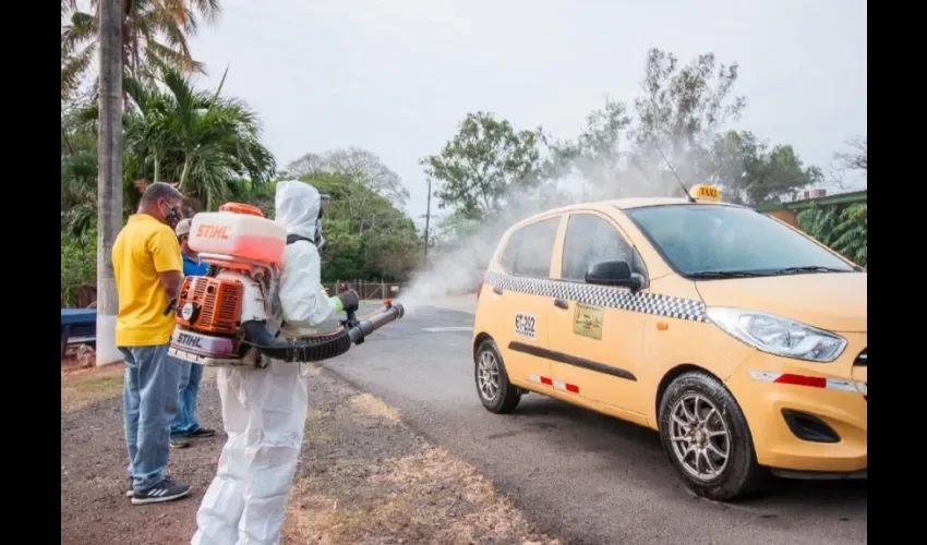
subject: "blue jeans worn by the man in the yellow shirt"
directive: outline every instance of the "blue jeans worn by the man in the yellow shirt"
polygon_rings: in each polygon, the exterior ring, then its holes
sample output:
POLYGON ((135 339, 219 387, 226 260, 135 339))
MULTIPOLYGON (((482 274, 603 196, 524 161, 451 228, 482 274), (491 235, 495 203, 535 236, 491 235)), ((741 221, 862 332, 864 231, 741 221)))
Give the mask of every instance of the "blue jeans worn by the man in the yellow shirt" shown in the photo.
POLYGON ((167 349, 168 344, 119 347, 125 363, 123 417, 135 492, 145 492, 165 477, 170 455, 180 366, 168 359, 167 349))

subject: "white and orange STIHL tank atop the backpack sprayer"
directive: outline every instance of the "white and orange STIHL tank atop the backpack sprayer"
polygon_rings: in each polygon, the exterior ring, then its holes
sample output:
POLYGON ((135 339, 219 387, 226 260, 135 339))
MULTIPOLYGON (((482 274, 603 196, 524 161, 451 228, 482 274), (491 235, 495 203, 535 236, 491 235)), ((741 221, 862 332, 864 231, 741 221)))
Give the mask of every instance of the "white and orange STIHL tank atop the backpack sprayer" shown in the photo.
POLYGON ((200 253, 279 265, 286 245, 285 227, 265 218, 258 208, 240 203, 200 213, 190 227, 190 247, 200 253))

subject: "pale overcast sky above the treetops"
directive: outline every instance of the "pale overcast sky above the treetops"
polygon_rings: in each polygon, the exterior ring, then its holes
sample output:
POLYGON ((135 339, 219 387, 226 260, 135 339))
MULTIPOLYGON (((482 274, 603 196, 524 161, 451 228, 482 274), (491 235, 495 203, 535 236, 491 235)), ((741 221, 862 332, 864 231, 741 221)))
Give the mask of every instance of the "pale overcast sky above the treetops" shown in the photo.
MULTIPOLYGON (((631 102, 657 47, 738 62, 736 129, 792 144, 828 170, 866 134, 865 0, 224 0, 192 39, 203 85, 264 121, 280 168, 358 146, 398 173, 425 213, 419 160, 468 112, 573 138, 605 97, 631 102)), ((432 204, 435 211, 434 202, 432 204)), ((440 215, 441 211, 437 211, 440 215)))

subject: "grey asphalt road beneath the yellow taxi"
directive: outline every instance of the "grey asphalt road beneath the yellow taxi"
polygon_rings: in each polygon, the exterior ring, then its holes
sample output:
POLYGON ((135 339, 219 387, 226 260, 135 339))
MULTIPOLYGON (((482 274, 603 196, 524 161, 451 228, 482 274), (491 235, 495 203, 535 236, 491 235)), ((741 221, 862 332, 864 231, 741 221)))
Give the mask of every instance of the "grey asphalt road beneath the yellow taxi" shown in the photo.
POLYGON ((866 542, 865 481, 779 481, 750 502, 715 504, 679 483, 653 432, 538 395, 509 415, 485 411, 473 383, 472 323, 466 312, 409 308, 325 366, 398 408, 565 543, 866 542))

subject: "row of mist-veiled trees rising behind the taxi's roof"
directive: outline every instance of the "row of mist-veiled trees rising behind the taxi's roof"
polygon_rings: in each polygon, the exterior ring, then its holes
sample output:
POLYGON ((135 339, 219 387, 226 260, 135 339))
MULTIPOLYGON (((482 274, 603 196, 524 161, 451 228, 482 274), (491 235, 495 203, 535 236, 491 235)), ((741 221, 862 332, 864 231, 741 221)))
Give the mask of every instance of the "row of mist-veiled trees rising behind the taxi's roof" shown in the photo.
POLYGON ((746 107, 734 93, 738 72, 737 63, 720 63, 713 53, 684 64, 651 49, 633 108, 609 98, 575 140, 556 141, 540 130, 519 140, 522 133, 507 121, 471 113, 437 156, 423 159, 425 174, 440 182, 440 207, 471 219, 505 208, 515 194, 519 204, 681 195, 678 177, 689 186, 721 185, 726 198, 756 204, 823 181, 820 169, 806 167, 792 146, 722 132, 746 107), (521 155, 498 152, 508 149, 521 155))

